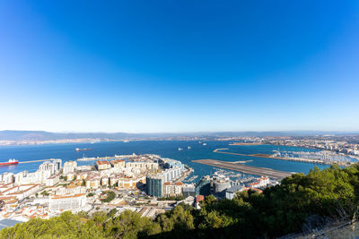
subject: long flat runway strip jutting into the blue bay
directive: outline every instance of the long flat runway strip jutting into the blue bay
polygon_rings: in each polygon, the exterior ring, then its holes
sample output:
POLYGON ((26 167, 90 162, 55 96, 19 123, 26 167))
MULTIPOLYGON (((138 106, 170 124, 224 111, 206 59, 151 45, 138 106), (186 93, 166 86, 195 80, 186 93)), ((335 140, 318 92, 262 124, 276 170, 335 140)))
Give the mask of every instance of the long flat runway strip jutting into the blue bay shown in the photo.
POLYGON ((294 174, 285 171, 274 170, 267 167, 238 165, 233 162, 220 161, 215 159, 199 159, 199 160, 192 160, 192 162, 197 164, 208 165, 208 166, 222 167, 225 169, 238 171, 243 174, 263 175, 275 179, 277 181, 282 180, 283 178, 294 174))

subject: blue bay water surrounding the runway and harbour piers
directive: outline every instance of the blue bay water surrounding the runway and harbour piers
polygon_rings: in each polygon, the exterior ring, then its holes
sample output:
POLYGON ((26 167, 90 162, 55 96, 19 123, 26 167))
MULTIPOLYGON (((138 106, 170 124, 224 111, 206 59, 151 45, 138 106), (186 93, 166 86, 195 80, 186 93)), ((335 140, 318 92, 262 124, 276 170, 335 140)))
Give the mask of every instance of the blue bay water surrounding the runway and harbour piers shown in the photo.
MULTIPOLYGON (((198 141, 109 141, 96 143, 66 143, 66 144, 43 144, 43 145, 22 145, 0 147, 0 162, 9 158, 16 158, 21 161, 31 161, 46 158, 61 158, 63 163, 68 160, 85 157, 105 157, 123 154, 158 154, 163 158, 180 160, 184 164, 195 169, 194 175, 197 180, 203 175, 211 175, 215 172, 213 166, 200 165, 191 162, 194 159, 218 159, 225 161, 252 160, 246 163, 248 166, 270 167, 276 170, 287 172, 308 173, 314 166, 324 168, 326 166, 310 163, 285 161, 271 158, 257 158, 239 155, 228 155, 215 153, 215 149, 228 148, 228 152, 256 154, 271 154, 273 150, 282 151, 315 151, 315 149, 303 149, 297 147, 275 146, 275 145, 251 145, 251 146, 230 146, 228 141, 206 141, 206 146, 198 141), (188 149, 188 146, 191 149, 188 149), (92 148, 93 150, 76 152, 76 148, 92 148), (182 148, 183 150, 179 150, 182 148)), ((0 174, 4 172, 18 173, 24 170, 35 172, 41 162, 19 164, 17 166, 1 166, 0 174)), ((78 165, 94 164, 94 161, 78 162, 78 165)))

